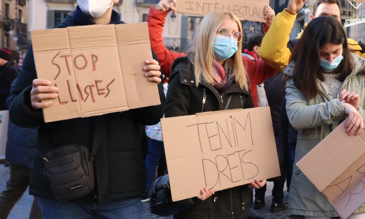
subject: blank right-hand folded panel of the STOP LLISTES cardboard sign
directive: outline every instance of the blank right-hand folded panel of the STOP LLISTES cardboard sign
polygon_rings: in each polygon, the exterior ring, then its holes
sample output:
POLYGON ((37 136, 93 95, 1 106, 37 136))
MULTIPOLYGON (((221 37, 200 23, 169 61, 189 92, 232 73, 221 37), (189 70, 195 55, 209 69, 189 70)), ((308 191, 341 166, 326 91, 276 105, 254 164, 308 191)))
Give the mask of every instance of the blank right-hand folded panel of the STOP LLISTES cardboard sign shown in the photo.
POLYGON ((158 92, 149 92, 156 90, 156 84, 146 80, 145 75, 141 74, 141 67, 146 65, 147 59, 152 58, 150 38, 145 26, 146 23, 115 26, 119 61, 122 66, 129 109, 156 105, 156 98, 160 101, 158 92), (131 36, 133 41, 131 41, 131 36), (141 90, 141 88, 143 89, 141 90))

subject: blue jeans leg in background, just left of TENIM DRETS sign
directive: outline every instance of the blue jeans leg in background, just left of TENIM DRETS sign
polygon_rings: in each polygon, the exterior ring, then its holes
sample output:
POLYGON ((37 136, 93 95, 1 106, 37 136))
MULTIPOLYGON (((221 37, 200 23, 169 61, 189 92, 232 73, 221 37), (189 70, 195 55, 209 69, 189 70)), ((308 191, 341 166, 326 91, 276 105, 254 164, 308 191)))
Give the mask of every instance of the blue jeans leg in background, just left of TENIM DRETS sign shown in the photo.
POLYGON ((166 163, 164 142, 150 139, 148 141, 148 152, 146 157, 146 193, 151 189, 151 184, 155 178, 156 169, 158 163, 160 163, 160 159, 162 162, 166 163))

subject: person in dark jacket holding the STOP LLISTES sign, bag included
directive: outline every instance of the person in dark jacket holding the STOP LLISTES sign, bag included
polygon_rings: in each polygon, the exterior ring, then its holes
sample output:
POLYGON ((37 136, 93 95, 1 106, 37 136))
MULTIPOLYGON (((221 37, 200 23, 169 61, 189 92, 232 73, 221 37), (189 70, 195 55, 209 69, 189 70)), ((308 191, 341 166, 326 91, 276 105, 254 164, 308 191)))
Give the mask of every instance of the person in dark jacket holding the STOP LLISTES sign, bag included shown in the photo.
POLYGON ((29 191, 45 219, 142 219, 138 124, 160 121, 165 95, 147 26, 122 24, 118 2, 78 0, 58 29, 32 32, 8 98, 16 125, 39 125, 29 191))

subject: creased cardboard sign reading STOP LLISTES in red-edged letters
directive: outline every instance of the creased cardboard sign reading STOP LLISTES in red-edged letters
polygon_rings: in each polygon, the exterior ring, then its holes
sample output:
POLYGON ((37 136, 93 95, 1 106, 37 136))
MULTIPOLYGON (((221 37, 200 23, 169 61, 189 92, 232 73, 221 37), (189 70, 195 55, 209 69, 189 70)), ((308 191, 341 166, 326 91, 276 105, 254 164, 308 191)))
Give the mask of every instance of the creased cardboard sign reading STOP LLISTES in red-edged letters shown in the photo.
MULTIPOLYGON (((32 30, 39 79, 58 87, 45 122, 160 105, 143 67, 152 58, 147 23, 32 30)), ((49 101, 49 100, 45 100, 49 101)))

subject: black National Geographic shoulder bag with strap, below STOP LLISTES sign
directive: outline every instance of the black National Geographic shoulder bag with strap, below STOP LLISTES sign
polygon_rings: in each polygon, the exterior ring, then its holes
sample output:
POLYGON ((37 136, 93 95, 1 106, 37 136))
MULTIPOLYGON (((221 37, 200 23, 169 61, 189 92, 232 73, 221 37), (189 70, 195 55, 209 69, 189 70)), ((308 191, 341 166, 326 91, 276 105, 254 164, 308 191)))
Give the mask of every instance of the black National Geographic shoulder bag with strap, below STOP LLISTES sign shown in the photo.
MULTIPOLYGON (((51 184, 53 195, 58 201, 78 199, 94 189, 93 161, 105 136, 108 115, 96 117, 94 144, 87 147, 69 144, 56 147, 41 156, 42 170, 51 184)), ((49 146, 49 134, 46 137, 49 146)))

